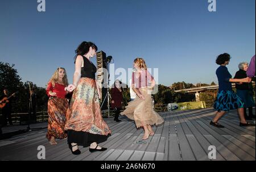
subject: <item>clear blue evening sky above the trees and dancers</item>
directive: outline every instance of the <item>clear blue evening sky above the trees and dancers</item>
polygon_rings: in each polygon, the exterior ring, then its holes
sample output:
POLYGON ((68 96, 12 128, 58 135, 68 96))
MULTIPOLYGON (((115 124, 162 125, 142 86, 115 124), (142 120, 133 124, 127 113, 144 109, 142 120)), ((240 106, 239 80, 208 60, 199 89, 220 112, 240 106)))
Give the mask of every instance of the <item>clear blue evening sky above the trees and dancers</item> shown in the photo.
POLYGON ((75 49, 93 41, 115 68, 143 57, 160 84, 217 83, 218 54, 230 53, 233 76, 255 54, 255 0, 216 2, 209 12, 208 0, 46 0, 38 12, 37 0, 1 0, 0 61, 15 64, 23 82, 45 87, 62 66, 72 83, 75 49))

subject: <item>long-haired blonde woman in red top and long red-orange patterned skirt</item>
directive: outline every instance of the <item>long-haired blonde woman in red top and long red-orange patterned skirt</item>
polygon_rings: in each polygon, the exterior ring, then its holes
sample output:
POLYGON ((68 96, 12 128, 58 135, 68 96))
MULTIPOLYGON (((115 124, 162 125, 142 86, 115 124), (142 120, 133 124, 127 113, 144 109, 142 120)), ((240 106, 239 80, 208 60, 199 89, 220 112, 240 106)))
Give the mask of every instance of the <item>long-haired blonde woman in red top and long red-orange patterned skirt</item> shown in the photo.
POLYGON ((49 79, 46 93, 48 100, 48 132, 47 139, 51 145, 57 144, 55 139, 64 139, 66 114, 68 109, 68 100, 66 98, 68 86, 67 74, 64 68, 57 68, 55 73, 49 79))

